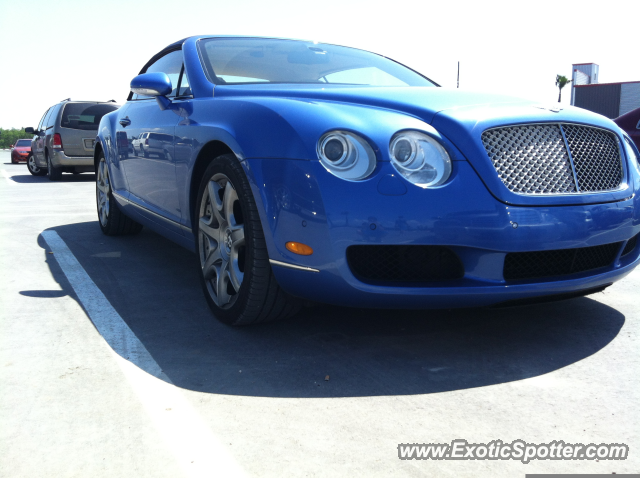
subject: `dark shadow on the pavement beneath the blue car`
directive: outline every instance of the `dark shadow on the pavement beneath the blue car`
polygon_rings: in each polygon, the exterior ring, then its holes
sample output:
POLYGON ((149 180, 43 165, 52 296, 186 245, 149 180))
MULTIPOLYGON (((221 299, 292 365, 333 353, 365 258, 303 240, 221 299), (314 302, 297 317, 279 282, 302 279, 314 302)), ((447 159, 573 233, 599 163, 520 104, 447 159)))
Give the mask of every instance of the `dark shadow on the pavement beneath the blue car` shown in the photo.
MULTIPOLYGON (((107 237, 97 222, 53 230, 169 379, 204 393, 358 397, 494 385, 583 360, 625 321, 607 305, 577 298, 510 309, 318 306, 290 320, 235 328, 213 318, 195 255, 180 246, 147 229, 107 237)), ((76 298, 38 241, 53 277, 76 298)))

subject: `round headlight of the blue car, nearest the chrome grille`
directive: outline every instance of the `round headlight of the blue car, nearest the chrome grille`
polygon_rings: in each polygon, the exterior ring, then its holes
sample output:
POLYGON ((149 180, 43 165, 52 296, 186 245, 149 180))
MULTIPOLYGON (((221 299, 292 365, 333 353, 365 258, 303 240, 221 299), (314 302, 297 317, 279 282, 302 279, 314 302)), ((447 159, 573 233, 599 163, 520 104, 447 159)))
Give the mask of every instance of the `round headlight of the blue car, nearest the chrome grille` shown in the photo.
POLYGON ((451 158, 440 142, 418 131, 401 131, 389 144, 391 163, 421 188, 440 186, 451 175, 451 158))

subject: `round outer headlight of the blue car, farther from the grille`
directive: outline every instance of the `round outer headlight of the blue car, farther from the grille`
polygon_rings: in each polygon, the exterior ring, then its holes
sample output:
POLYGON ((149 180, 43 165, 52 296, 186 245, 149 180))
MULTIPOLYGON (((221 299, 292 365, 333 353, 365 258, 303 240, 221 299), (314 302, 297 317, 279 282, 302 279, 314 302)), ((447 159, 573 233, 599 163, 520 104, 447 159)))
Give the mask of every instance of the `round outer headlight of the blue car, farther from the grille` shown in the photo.
POLYGON ((369 143, 348 131, 331 131, 318 141, 318 158, 334 176, 360 181, 376 169, 376 155, 369 143))

